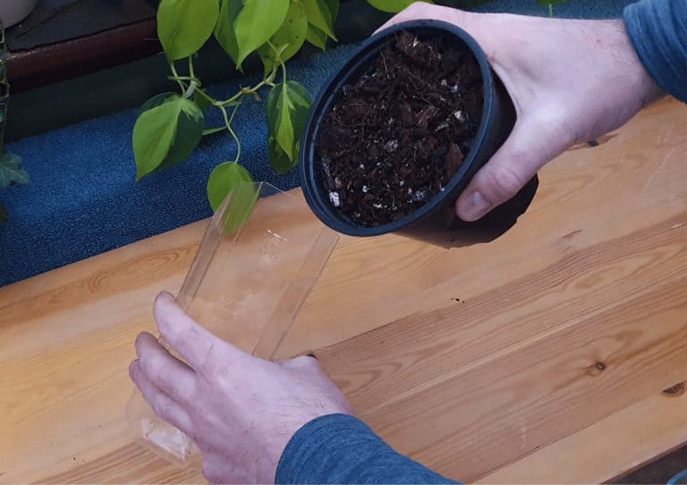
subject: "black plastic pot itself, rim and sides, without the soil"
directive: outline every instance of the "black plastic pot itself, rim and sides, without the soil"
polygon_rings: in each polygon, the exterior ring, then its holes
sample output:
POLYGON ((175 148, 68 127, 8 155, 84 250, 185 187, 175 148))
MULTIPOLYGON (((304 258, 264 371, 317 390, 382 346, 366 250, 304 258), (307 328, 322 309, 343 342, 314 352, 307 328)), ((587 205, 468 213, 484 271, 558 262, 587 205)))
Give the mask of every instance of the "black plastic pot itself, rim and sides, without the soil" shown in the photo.
POLYGON ((327 226, 338 232, 358 237, 377 236, 394 232, 443 247, 466 246, 493 240, 513 227, 518 217, 530 206, 539 180, 535 176, 520 193, 477 222, 462 222, 455 215, 455 201, 479 169, 503 145, 513 130, 515 111, 513 102, 496 74, 487 55, 475 39, 462 29, 443 21, 410 21, 386 29, 365 41, 352 58, 335 73, 316 100, 301 142, 300 175, 303 194, 311 210, 327 226), (468 46, 479 64, 483 85, 484 105, 477 136, 461 166, 428 202, 415 212, 397 221, 375 227, 363 226, 341 213, 329 200, 324 166, 318 158, 316 142, 325 116, 335 105, 345 85, 354 83, 374 63, 377 54, 389 46, 402 31, 420 39, 449 37, 451 42, 468 46))

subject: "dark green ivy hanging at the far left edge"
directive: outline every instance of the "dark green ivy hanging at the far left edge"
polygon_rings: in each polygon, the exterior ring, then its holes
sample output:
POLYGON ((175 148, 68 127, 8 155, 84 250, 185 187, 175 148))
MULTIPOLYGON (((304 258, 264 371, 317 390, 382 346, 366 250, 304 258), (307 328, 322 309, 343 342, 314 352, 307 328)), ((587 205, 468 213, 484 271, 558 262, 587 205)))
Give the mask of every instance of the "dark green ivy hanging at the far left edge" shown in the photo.
MULTIPOLYGON (((21 157, 14 155, 4 146, 4 126, 7 121, 7 102, 10 98, 10 85, 7 82, 7 48, 4 43, 4 27, 0 22, 0 188, 29 183, 29 174, 21 164, 21 157)), ((4 205, 0 203, 0 225, 9 220, 4 205)))

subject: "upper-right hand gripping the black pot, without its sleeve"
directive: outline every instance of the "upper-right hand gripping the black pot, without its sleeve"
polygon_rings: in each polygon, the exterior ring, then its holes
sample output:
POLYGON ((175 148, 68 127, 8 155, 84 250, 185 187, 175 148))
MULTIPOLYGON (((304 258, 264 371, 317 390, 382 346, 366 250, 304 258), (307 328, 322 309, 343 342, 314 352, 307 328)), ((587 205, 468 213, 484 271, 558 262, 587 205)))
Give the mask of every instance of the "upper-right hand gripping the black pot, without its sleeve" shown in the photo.
POLYGON ((464 221, 478 220, 567 148, 615 130, 661 95, 623 21, 467 13, 417 3, 382 29, 417 19, 448 21, 470 33, 517 113, 510 137, 456 202, 464 221))

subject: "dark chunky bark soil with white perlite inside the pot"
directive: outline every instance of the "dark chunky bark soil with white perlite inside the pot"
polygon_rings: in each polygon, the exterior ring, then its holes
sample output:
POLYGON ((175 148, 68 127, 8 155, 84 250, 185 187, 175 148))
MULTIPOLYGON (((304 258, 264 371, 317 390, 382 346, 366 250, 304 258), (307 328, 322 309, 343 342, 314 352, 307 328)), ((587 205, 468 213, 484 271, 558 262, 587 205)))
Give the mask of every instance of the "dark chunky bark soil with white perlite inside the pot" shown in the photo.
POLYGON ((366 227, 418 210, 468 155, 482 105, 467 46, 401 32, 323 120, 316 149, 329 202, 366 227))

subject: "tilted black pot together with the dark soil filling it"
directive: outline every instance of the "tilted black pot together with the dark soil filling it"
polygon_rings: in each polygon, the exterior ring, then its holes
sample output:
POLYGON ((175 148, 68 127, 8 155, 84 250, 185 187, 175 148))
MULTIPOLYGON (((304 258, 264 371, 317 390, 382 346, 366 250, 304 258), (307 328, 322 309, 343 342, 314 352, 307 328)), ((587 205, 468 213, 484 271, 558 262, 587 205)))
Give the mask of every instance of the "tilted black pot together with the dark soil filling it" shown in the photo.
POLYGON ((458 219, 454 203, 514 121, 470 35, 405 22, 369 38, 322 90, 303 138, 303 194, 344 234, 393 231, 442 246, 496 238, 530 205, 536 178, 479 222, 458 219))

